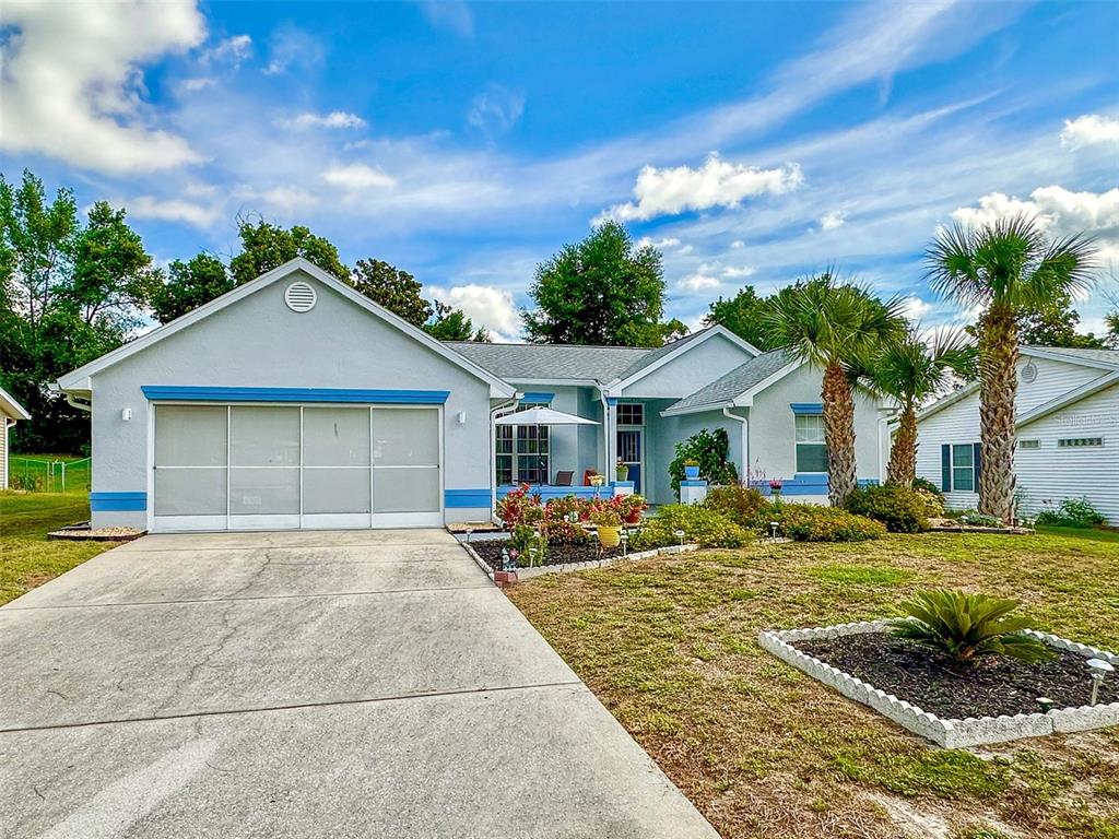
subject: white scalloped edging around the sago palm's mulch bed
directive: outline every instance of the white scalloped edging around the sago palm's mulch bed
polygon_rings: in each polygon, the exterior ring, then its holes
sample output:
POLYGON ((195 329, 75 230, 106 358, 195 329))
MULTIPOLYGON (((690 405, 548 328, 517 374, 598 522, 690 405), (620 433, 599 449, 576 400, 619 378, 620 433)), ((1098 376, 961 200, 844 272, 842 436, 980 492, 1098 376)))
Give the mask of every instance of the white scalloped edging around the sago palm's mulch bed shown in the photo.
MULTIPOLYGON (((966 717, 963 719, 942 719, 935 714, 929 714, 915 705, 899 699, 893 694, 856 679, 850 673, 838 670, 830 664, 801 652, 792 642, 811 641, 816 639, 857 635, 868 632, 885 632, 890 621, 859 621, 857 623, 840 623, 835 626, 817 626, 814 629, 761 631, 758 641, 763 649, 769 650, 788 664, 801 670, 814 679, 835 688, 848 699, 868 705, 883 716, 914 734, 946 748, 961 746, 980 746, 990 743, 1005 743, 1021 737, 1043 737, 1054 732, 1087 732, 1092 728, 1107 728, 1119 725, 1119 703, 1109 705, 1082 705, 1079 708, 1059 708, 1046 714, 1016 714, 1013 717, 966 717)), ((1050 647, 1068 650, 1088 658, 1099 658, 1119 667, 1119 656, 1107 650, 1069 641, 1046 632, 1027 630, 1035 638, 1050 647)))

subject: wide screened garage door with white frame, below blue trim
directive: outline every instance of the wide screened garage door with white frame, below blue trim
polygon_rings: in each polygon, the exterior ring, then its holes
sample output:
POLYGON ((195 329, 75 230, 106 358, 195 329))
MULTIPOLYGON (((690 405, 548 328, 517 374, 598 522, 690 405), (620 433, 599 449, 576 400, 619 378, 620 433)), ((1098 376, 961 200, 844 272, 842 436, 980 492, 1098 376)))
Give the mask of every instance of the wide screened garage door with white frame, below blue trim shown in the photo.
POLYGON ((439 407, 157 405, 154 528, 443 522, 439 407))

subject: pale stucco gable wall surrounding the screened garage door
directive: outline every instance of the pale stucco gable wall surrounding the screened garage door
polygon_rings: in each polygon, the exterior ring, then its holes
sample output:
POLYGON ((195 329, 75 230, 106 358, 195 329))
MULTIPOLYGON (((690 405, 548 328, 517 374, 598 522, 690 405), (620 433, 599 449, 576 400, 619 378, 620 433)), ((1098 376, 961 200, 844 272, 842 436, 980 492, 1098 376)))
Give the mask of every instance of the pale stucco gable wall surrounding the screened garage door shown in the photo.
MULTIPOLYGON (((280 280, 96 374, 93 388, 93 491, 148 492, 150 404, 144 385, 449 390, 444 405, 443 486, 489 492, 489 385, 399 329, 302 273, 280 280), (304 313, 283 301, 286 286, 314 285, 304 313), (132 418, 121 417, 122 408, 132 418), (458 422, 459 413, 466 423, 458 422)), ((448 520, 488 518, 452 508, 448 520)), ((144 511, 95 512, 94 525, 147 526, 144 511)))

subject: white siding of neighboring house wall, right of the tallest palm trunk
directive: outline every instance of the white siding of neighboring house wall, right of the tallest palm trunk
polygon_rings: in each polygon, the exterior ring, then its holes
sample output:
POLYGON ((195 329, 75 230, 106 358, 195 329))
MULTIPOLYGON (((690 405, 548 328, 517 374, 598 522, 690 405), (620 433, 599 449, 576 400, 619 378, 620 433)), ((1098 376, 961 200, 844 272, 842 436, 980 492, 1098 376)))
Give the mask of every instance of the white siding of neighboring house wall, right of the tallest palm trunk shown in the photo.
POLYGON ((1041 449, 1019 449, 1014 461, 1025 515, 1085 497, 1119 524, 1119 385, 1018 428, 1018 440, 1041 442, 1041 449), (1103 437, 1103 445, 1057 449, 1062 437, 1103 437))

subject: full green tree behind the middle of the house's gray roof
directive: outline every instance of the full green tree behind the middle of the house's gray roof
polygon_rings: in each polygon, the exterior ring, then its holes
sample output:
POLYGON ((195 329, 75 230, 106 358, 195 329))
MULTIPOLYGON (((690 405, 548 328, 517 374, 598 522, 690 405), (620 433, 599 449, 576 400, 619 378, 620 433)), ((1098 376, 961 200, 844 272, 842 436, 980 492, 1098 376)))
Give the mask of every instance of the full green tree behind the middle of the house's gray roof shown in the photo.
POLYGON ((660 253, 651 245, 634 247, 617 221, 538 265, 529 293, 535 309, 520 317, 536 343, 657 347, 665 341, 660 253))

